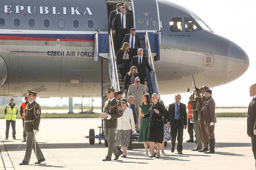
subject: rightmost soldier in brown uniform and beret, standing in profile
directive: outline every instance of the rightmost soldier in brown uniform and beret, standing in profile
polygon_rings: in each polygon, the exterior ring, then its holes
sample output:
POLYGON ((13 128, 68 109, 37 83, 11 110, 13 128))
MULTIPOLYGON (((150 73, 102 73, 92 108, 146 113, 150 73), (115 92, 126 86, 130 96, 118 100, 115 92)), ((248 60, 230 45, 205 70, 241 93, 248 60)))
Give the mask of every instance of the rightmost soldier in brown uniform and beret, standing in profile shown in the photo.
POLYGON ((215 153, 215 135, 214 135, 214 124, 216 121, 215 116, 215 102, 212 98, 212 90, 207 89, 204 93, 205 101, 203 104, 203 117, 206 132, 209 137, 210 149, 204 153, 215 153))

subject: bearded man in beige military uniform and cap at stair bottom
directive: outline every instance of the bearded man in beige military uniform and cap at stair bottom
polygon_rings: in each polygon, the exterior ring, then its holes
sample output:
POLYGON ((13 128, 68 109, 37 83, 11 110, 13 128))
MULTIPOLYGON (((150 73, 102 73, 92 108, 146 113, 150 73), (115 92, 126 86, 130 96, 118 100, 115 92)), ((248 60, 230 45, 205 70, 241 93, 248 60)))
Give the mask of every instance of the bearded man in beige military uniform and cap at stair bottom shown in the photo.
MULTIPOLYGON (((134 97, 134 105, 135 105, 135 111, 137 114, 137 121, 139 122, 139 106, 142 101, 142 95, 146 94, 146 88, 144 85, 140 84, 140 78, 136 77, 134 80, 134 84, 129 86, 127 96, 133 96, 134 97)), ((136 131, 139 132, 140 129, 138 125, 136 126, 136 131)))

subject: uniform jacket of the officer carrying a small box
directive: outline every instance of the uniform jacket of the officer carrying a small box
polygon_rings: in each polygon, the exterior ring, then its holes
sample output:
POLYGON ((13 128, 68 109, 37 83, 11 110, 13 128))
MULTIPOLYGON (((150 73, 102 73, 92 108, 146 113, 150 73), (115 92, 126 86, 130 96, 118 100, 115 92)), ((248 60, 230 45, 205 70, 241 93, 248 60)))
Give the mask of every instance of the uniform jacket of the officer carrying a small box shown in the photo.
POLYGON ((108 100, 104 104, 104 113, 108 113, 111 115, 111 119, 104 119, 104 127, 105 128, 116 128, 117 127, 117 118, 122 117, 122 109, 121 102, 117 99, 113 99, 109 104, 108 100))

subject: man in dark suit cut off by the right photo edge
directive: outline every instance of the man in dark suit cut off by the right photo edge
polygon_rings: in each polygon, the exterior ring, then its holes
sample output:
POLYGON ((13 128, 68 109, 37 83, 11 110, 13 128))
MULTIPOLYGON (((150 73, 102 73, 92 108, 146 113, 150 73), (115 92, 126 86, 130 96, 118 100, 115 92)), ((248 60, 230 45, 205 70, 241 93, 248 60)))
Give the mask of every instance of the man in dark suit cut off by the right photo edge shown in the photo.
MULTIPOLYGON (((252 140, 252 152, 256 160, 256 83, 250 87, 250 96, 253 97, 248 107, 247 134, 252 140)), ((256 163, 255 163, 256 166, 256 163)))

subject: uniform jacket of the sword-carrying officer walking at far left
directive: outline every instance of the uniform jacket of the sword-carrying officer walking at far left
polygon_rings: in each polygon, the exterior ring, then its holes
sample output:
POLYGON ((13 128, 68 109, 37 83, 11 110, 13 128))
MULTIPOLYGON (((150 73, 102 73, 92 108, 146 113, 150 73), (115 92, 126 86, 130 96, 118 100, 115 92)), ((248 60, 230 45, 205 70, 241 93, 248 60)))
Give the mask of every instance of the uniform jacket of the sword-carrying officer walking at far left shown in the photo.
POLYGON ((24 115, 24 131, 25 132, 33 132, 33 130, 39 131, 40 124, 40 116, 41 116, 41 106, 36 103, 36 101, 31 104, 27 104, 24 115), (27 122, 29 120, 34 120, 34 122, 27 122))

